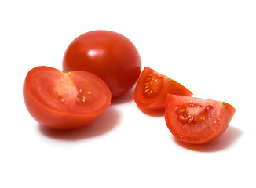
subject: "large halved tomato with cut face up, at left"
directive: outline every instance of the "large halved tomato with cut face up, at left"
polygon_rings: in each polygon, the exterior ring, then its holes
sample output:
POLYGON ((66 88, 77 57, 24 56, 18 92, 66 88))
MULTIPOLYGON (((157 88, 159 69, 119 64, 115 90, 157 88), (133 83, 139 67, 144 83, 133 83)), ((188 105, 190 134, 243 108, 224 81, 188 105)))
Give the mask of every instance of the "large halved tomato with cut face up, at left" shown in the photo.
POLYGON ((96 75, 43 66, 27 73, 23 94, 35 121, 60 130, 87 125, 111 103, 108 86, 96 75))

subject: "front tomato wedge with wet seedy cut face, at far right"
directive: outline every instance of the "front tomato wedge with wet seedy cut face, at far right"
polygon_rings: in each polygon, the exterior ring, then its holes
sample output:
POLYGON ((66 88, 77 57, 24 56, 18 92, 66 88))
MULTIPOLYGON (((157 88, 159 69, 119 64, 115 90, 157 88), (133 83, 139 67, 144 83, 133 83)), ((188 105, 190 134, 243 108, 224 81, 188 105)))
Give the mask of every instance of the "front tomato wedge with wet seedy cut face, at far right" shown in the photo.
POLYGON ((165 120, 177 139, 185 143, 207 143, 225 132, 235 112, 229 103, 168 95, 165 120))

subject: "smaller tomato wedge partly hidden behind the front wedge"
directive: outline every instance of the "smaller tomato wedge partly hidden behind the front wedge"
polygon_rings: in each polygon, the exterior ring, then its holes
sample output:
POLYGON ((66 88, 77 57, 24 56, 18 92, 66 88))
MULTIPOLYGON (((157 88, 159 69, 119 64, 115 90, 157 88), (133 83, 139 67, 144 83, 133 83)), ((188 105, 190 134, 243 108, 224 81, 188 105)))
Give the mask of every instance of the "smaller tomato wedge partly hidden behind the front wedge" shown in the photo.
POLYGON ((167 94, 192 96, 185 86, 177 83, 149 67, 144 67, 134 90, 134 100, 138 107, 148 110, 164 110, 167 94))

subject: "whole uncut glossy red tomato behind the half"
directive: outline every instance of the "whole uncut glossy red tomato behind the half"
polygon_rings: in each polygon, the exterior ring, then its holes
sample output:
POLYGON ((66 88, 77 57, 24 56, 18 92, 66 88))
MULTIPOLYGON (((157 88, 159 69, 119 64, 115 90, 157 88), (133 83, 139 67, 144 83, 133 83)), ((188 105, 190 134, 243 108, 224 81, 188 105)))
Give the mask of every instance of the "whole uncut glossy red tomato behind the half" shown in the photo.
POLYGON ((75 38, 64 52, 63 71, 89 71, 106 82, 112 99, 135 85, 141 57, 135 45, 113 31, 90 31, 75 38))

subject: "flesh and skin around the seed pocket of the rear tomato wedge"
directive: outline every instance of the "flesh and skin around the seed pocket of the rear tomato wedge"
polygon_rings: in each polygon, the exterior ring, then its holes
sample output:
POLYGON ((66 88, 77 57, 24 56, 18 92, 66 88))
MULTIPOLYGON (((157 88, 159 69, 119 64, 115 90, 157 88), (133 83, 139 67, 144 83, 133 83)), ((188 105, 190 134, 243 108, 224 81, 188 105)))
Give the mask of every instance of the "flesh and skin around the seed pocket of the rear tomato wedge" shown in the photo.
POLYGON ((137 85, 134 90, 133 98, 138 107, 147 110, 165 110, 167 94, 175 94, 182 96, 192 96, 193 93, 189 91, 185 86, 181 85, 177 81, 168 78, 167 76, 160 74, 159 72, 151 69, 150 67, 144 67, 141 72, 141 76, 138 78, 137 85), (144 79, 148 74, 157 74, 159 77, 163 77, 163 89, 159 92, 158 96, 152 99, 149 103, 144 101, 141 88, 144 87, 144 79))

